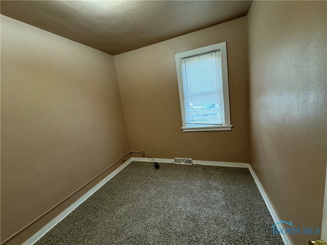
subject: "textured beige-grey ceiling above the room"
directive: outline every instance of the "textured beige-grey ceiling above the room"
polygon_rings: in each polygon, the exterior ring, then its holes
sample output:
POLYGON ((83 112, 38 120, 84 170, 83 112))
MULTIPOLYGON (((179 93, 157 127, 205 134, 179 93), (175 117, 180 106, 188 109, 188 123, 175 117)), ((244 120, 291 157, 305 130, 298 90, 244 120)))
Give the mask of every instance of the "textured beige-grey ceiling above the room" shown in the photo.
POLYGON ((247 14, 251 1, 1 1, 1 14, 111 55, 247 14))

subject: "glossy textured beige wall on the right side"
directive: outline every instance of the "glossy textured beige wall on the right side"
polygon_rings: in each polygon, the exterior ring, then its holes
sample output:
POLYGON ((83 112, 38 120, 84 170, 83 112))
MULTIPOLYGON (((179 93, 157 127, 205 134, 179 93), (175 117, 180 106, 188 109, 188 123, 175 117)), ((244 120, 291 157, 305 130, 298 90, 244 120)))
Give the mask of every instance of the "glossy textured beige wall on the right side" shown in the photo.
MULTIPOLYGON (((253 2, 252 167, 283 220, 320 227, 326 173, 327 2, 253 2)), ((317 235, 293 235, 308 244, 317 235)))

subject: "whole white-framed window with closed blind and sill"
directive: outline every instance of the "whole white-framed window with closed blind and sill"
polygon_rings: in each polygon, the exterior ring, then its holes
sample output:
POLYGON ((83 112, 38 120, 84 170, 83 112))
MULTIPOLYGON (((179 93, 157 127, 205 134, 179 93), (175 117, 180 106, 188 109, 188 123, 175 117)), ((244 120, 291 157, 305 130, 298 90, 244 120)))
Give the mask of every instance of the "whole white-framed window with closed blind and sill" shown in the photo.
POLYGON ((226 42, 175 59, 183 132, 231 130, 226 42))

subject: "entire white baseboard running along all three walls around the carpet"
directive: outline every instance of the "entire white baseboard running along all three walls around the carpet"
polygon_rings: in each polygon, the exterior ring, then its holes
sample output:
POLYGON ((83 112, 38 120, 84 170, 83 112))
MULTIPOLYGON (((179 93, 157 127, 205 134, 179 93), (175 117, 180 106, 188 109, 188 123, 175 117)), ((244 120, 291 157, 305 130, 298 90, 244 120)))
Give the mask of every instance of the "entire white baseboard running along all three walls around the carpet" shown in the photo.
MULTIPOLYGON (((153 158, 156 162, 161 163, 174 163, 174 159, 163 159, 163 158, 153 158)), ((64 210, 62 213, 60 213, 57 217, 55 217, 53 220, 51 220, 50 223, 45 225, 41 230, 39 230, 37 233, 35 233, 31 238, 29 238, 27 241, 23 243, 23 245, 32 245, 37 240, 39 240, 46 232, 50 231, 54 226, 56 226, 63 218, 65 218, 69 213, 71 213, 74 209, 76 209, 80 204, 82 204, 86 199, 90 197, 94 192, 96 192, 99 188, 101 188, 105 183, 107 183, 112 177, 114 177, 116 174, 118 174, 124 167, 126 167, 129 163, 132 161, 143 161, 143 162, 149 162, 151 161, 151 158, 147 157, 131 157, 126 162, 124 162, 120 167, 115 169, 111 174, 109 174, 106 178, 104 178, 99 184, 97 184, 95 187, 90 189, 88 192, 86 192, 79 200, 77 200, 75 203, 73 203, 71 206, 69 206, 66 210, 64 210)), ((275 223, 280 222, 275 209, 273 208, 267 193, 265 192, 264 188, 261 185, 260 180, 258 177, 256 177, 252 167, 248 163, 237 163, 237 162, 215 162, 215 161, 198 161, 193 160, 193 164, 201 164, 201 165, 214 165, 214 166, 226 166, 226 167, 248 167, 252 177, 258 186, 260 193, 268 207, 268 210, 274 220, 275 223)), ((289 239, 288 235, 283 234, 282 235, 283 241, 286 245, 292 245, 291 240, 289 239)))

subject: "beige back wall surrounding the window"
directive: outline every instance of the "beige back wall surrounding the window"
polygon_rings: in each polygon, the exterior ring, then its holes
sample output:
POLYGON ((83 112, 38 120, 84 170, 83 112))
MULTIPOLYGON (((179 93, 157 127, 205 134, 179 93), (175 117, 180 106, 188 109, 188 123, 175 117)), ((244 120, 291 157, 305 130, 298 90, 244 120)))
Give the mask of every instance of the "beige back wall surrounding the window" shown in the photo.
POLYGON ((246 17, 114 56, 131 150, 249 162, 246 17), (231 131, 182 132, 175 54, 227 42, 231 131))

